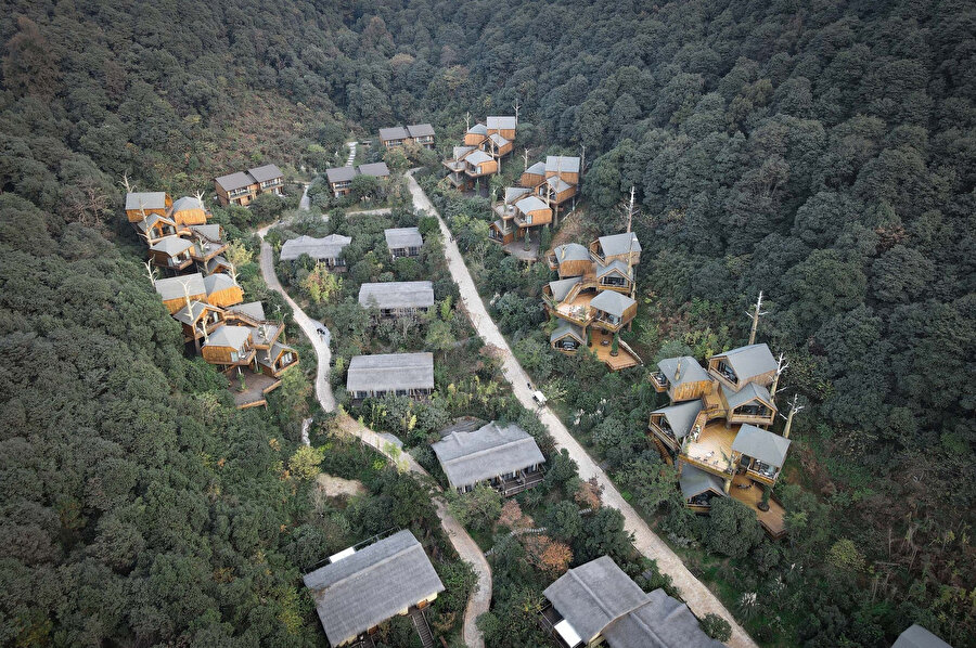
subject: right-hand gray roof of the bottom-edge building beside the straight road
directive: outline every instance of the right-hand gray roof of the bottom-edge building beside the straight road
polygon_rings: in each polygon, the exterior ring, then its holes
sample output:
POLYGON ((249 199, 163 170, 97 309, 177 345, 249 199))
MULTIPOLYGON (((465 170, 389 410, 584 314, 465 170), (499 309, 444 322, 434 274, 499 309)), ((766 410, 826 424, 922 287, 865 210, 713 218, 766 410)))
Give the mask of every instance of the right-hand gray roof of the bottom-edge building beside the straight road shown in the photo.
POLYGON ((724 648, 710 638, 688 606, 655 589, 637 610, 603 631, 609 648, 724 648))

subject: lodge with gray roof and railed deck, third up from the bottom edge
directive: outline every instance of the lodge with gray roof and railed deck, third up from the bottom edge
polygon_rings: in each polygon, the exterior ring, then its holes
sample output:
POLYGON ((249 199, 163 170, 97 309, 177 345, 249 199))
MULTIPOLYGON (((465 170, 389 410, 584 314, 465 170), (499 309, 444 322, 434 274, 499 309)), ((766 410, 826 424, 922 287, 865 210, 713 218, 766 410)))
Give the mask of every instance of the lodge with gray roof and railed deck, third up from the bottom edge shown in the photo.
POLYGON ((453 431, 431 448, 460 493, 484 483, 508 497, 542 482, 542 451, 515 424, 491 422, 474 431, 453 431))

